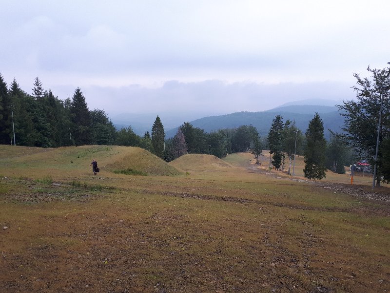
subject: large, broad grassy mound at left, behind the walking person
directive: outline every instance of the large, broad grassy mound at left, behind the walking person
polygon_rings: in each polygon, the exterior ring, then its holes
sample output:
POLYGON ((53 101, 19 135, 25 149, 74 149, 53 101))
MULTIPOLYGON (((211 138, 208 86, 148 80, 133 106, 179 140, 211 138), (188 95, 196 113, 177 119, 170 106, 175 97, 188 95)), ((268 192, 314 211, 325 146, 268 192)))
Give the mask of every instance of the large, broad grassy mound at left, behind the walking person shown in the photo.
POLYGON ((133 175, 180 175, 175 167, 139 148, 129 146, 67 146, 39 148, 27 146, 0 146, 0 169, 14 170, 14 176, 53 180, 68 174, 82 178, 92 173, 92 159, 98 161, 101 172, 119 170, 133 175), (133 170, 133 171, 129 171, 133 170), (39 176, 39 177, 38 177, 39 176))

